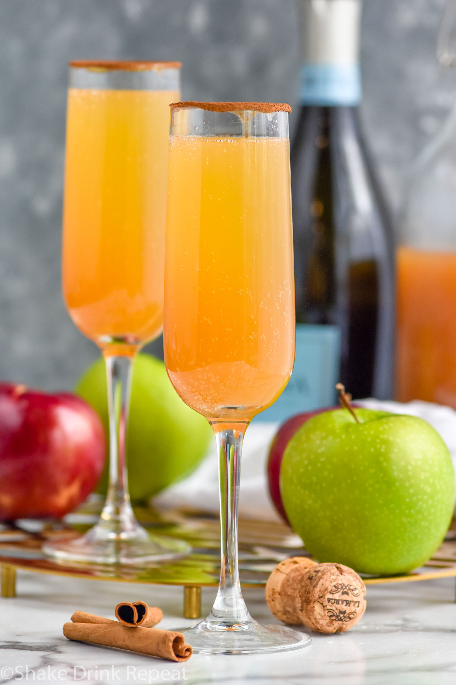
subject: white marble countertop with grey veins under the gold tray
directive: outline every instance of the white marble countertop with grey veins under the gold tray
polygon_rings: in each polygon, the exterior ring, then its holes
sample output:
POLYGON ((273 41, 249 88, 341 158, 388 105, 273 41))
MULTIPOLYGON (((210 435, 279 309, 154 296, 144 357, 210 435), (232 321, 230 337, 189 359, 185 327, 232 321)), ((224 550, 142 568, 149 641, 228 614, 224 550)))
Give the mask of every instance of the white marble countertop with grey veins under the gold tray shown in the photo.
MULTIPOLYGON (((174 664, 66 640, 63 624, 75 610, 113 618, 119 601, 160 606, 161 627, 181 617, 182 588, 74 580, 18 571, 18 596, 0 599, 0 683, 33 680, 103 683, 187 682, 243 685, 454 685, 455 579, 368 586, 367 610, 350 632, 312 634, 306 649, 265 656, 193 655, 174 664), (33 673, 35 671, 35 678, 33 673), (102 669, 105 669, 103 674, 102 669), (92 671, 92 672, 90 672, 92 671)), ((203 591, 209 612, 215 590, 203 591)), ((276 623, 262 590, 244 593, 252 615, 276 623)))

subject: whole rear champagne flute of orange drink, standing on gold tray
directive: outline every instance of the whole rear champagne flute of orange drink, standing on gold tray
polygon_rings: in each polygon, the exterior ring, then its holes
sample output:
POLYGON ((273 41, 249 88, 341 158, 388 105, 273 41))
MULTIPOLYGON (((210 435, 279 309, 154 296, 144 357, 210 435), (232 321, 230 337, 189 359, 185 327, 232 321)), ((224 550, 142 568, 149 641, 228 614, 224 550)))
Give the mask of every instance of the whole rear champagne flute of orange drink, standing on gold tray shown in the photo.
POLYGON ((100 347, 109 395, 109 488, 98 523, 44 552, 64 561, 141 564, 183 556, 131 507, 125 437, 131 367, 163 325, 167 147, 178 62, 70 62, 63 290, 72 321, 100 347))

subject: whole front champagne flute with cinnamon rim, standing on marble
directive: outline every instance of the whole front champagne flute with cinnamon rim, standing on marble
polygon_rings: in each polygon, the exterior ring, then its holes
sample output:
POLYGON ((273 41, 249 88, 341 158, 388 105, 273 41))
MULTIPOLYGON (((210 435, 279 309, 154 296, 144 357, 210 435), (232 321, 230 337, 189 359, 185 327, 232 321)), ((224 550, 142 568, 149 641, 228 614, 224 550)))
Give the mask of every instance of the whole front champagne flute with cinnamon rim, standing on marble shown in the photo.
POLYGON ((197 653, 310 643, 260 625, 239 584, 237 521, 245 429, 282 393, 295 355, 289 105, 172 105, 165 248, 165 364, 206 416, 219 454, 222 561, 207 618, 185 630, 197 653))

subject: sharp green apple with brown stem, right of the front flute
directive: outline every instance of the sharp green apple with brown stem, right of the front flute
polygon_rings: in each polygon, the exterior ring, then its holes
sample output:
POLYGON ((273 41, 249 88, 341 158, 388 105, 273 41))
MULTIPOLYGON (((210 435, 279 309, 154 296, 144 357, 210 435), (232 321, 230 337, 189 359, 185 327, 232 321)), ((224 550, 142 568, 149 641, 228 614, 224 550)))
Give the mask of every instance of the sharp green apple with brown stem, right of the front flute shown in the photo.
POLYGON ((287 445, 280 490, 319 562, 395 575, 423 564, 453 514, 448 449, 423 419, 356 409, 314 416, 287 445))

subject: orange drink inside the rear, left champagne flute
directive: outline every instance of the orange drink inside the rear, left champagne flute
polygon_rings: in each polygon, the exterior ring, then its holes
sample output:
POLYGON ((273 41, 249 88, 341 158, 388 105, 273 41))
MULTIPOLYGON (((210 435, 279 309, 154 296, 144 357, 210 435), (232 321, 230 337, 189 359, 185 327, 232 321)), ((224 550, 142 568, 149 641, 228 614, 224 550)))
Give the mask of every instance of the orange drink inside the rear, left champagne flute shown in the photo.
POLYGON ((63 281, 75 324, 131 350, 163 325, 172 90, 70 88, 63 281))

